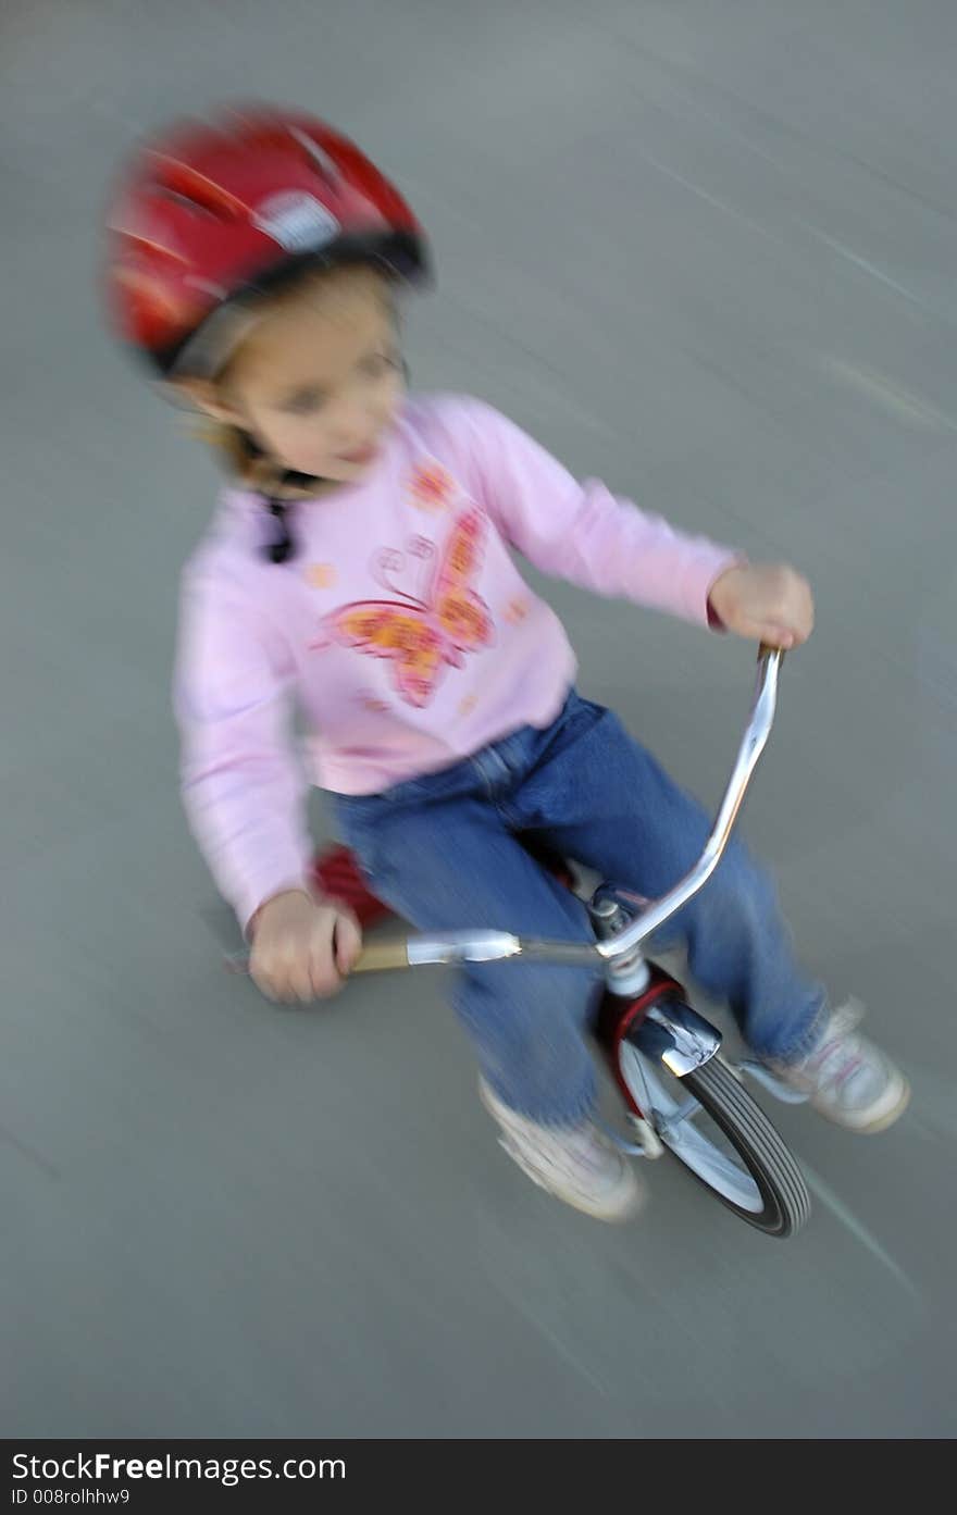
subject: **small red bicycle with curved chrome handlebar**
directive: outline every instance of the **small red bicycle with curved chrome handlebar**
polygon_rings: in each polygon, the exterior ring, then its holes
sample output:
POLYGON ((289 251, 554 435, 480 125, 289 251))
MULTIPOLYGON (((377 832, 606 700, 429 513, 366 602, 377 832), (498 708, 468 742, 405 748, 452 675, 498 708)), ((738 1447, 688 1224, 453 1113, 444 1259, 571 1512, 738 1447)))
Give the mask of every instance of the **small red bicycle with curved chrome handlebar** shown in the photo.
MULTIPOLYGON (((743 1085, 754 1079, 789 1104, 804 1095, 762 1064, 721 1056, 721 1033, 686 1000, 681 985, 645 957, 644 947, 701 888, 718 867, 745 792, 765 750, 777 711, 783 653, 762 647, 754 703, 716 820, 695 867, 660 900, 645 900, 603 882, 586 906, 595 941, 522 938, 503 930, 421 933, 366 942, 353 973, 418 968, 427 964, 525 961, 598 964, 606 988, 597 1036, 624 1101, 633 1141, 604 1127, 622 1151, 654 1160, 671 1151, 722 1204, 768 1236, 796 1235, 810 1215, 810 1195, 784 1141, 743 1085)), ((571 888, 574 873, 562 859, 528 850, 571 888)), ((316 876, 329 894, 348 895, 348 853, 327 854, 316 876), (345 885, 345 886, 344 886, 345 885)), ((357 901, 353 874, 353 900, 357 901)), ((359 889, 363 886, 359 885, 359 889)), ((389 914, 365 892, 363 924, 389 914), (371 903, 369 903, 371 901, 371 903)), ((245 956, 233 959, 248 964, 245 956)))

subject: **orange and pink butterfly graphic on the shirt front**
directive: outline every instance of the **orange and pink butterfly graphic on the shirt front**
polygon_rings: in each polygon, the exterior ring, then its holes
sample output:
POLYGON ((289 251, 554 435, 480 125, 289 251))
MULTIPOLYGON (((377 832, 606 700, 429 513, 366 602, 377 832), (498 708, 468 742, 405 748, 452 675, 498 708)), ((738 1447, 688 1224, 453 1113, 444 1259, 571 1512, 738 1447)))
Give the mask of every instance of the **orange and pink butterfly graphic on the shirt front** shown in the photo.
POLYGON ((407 567, 406 553, 386 548, 377 558, 379 582, 395 595, 357 600, 323 621, 312 648, 354 647, 369 658, 388 658, 398 694, 422 708, 432 700, 447 667, 462 668, 465 654, 494 639, 489 608, 472 589, 485 556, 486 518, 477 506, 453 523, 435 564, 436 547, 412 538, 409 556, 424 564, 424 594, 415 595, 392 582, 407 567))

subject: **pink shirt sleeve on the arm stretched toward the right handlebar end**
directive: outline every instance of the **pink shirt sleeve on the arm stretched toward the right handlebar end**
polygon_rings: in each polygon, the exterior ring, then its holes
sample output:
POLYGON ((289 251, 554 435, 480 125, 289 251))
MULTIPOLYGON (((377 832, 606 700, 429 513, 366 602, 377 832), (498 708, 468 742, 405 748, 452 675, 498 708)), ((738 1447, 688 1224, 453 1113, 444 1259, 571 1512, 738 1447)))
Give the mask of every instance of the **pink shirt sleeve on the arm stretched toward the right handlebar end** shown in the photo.
POLYGON ((689 536, 600 480, 578 483, 551 453, 480 400, 463 400, 471 476, 501 535, 542 573, 701 626, 715 580, 743 556, 689 536))

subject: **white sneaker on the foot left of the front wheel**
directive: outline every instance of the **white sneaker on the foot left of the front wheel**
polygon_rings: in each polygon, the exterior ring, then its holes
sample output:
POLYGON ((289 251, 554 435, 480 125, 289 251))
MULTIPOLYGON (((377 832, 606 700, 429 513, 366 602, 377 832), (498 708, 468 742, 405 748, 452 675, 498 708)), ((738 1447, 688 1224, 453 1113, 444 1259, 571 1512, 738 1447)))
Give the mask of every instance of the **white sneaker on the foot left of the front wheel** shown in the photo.
POLYGON ((645 1200, 634 1167, 592 1121, 536 1126, 478 1079, 478 1095, 501 1127, 500 1147, 533 1183, 600 1221, 625 1221, 645 1200))

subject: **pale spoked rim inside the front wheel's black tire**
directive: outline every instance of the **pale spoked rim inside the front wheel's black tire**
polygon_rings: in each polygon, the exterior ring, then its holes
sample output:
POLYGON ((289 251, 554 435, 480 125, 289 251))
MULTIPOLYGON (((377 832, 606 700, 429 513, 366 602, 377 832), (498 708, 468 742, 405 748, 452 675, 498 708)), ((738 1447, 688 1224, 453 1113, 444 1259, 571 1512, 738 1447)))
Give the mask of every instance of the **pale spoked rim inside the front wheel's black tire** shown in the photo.
POLYGON ((653 1123, 668 1150, 730 1204, 750 1215, 760 1215, 765 1209, 762 1191, 743 1159, 687 1086, 662 1064, 642 1057, 637 1047, 627 1041, 619 1048, 619 1067, 634 1103, 653 1123), (671 1126, 689 1103, 694 1110, 671 1126))

